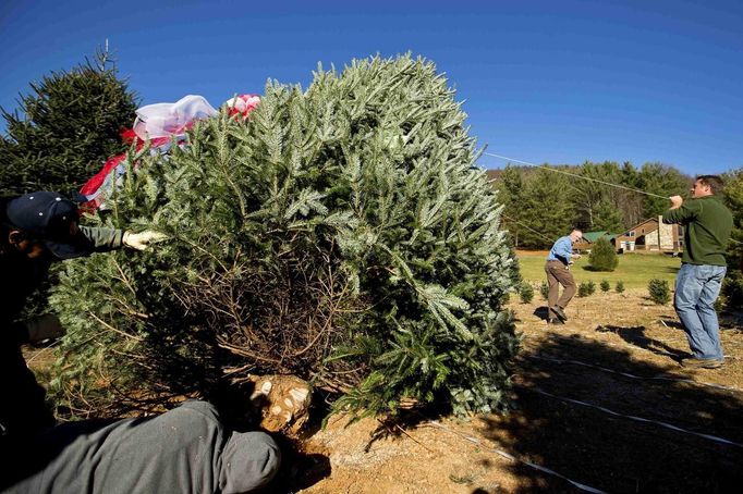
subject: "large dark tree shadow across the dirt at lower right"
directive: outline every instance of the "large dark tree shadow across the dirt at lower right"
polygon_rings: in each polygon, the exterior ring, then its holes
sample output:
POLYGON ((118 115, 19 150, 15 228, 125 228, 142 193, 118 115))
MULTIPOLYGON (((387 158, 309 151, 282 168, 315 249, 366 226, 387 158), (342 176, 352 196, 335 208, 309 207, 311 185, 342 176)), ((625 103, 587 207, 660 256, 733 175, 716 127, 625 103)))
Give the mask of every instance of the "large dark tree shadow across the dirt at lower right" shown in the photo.
MULTIPOLYGON (((643 332, 642 326, 617 330, 632 344, 638 339, 633 336, 643 332)), ((681 373, 670 359, 660 366, 638 361, 621 348, 552 334, 520 358, 513 393, 517 408, 510 416, 486 417, 479 432, 499 449, 607 492, 736 492, 743 482, 743 391, 681 381, 707 381, 715 372, 721 371, 681 373), (565 360, 679 381, 632 379, 565 360), (738 445, 564 398, 712 434, 738 445)), ((522 462, 510 468, 520 481, 515 492, 581 492, 568 481, 522 462)))

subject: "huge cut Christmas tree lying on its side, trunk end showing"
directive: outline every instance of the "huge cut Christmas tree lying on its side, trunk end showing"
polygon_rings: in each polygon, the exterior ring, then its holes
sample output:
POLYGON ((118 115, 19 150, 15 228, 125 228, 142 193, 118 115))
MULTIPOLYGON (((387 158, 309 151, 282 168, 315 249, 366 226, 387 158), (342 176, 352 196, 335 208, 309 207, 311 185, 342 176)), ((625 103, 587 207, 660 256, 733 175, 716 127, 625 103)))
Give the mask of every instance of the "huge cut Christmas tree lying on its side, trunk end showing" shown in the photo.
POLYGON ((515 261, 464 119, 433 63, 375 58, 318 69, 304 92, 269 83, 246 122, 131 157, 93 221, 171 240, 68 264, 58 396, 100 407, 293 373, 367 413, 502 409, 515 261))

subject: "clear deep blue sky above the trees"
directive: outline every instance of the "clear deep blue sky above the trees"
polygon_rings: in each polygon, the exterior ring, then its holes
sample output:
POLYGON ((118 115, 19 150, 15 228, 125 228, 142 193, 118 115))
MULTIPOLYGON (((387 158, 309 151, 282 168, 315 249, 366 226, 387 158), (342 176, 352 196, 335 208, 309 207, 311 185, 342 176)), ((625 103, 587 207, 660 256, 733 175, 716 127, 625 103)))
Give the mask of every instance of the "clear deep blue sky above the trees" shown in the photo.
POLYGON ((491 152, 743 166, 740 0, 353 3, 2 0, 0 106, 107 38, 143 104, 195 94, 218 106, 268 78, 306 87, 318 62, 412 51, 446 72, 491 152))

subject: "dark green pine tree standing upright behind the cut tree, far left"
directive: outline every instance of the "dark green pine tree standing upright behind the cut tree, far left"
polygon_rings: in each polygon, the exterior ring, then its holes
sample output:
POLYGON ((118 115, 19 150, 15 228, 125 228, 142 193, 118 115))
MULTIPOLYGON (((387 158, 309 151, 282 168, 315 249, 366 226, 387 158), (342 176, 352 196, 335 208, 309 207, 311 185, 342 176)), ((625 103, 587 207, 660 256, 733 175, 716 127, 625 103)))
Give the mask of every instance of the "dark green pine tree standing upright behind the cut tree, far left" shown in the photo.
POLYGON ((70 71, 31 83, 20 110, 2 110, 0 194, 77 190, 107 158, 122 152, 120 131, 134 122, 137 100, 117 77, 107 51, 70 71))

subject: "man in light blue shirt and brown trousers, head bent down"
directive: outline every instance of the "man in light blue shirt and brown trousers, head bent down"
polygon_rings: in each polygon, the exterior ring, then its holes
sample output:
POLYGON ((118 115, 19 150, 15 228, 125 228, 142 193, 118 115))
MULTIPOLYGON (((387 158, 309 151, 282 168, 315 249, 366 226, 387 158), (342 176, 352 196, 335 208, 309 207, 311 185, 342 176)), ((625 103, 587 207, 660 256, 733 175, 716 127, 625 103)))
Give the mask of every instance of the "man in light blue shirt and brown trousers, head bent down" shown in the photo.
POLYGON ((547 282, 549 283, 547 322, 550 324, 564 324, 568 320, 564 309, 568 307, 571 298, 573 298, 573 295, 575 295, 575 280, 573 280, 573 275, 570 272, 570 264, 573 258, 577 259, 581 257, 573 255, 573 244, 582 237, 583 232, 573 229, 570 235, 558 238, 555 245, 552 245, 549 256, 547 256, 547 263, 545 264, 547 282), (558 299, 560 285, 564 289, 558 299))

